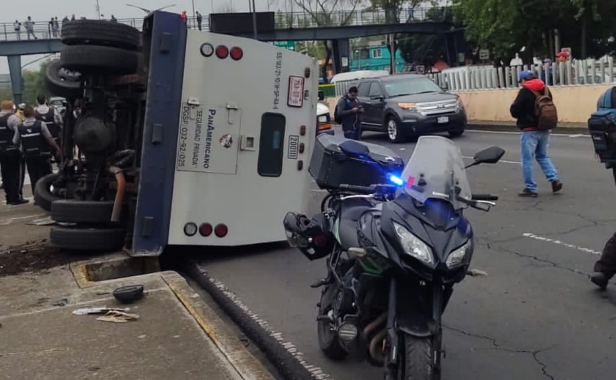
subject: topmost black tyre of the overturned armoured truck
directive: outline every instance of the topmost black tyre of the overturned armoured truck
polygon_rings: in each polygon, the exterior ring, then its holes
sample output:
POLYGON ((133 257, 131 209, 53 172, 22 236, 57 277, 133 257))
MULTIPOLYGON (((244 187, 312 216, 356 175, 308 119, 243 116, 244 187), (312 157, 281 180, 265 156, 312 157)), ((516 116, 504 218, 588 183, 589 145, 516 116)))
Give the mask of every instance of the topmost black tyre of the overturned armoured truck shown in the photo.
POLYGON ((139 34, 139 30, 121 23, 105 20, 74 20, 62 26, 62 43, 135 50, 139 47, 139 34))

